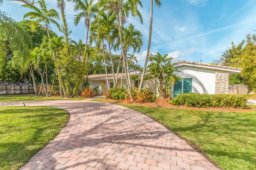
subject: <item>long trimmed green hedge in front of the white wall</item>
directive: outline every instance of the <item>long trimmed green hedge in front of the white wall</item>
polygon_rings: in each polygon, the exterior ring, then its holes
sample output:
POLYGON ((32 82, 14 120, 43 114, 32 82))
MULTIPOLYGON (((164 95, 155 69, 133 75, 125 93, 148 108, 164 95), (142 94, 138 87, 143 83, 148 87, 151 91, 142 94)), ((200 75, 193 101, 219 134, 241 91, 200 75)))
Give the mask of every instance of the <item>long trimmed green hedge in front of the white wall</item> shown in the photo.
POLYGON ((173 98, 172 105, 185 105, 188 107, 233 107, 246 108, 246 95, 209 95, 186 93, 173 98))

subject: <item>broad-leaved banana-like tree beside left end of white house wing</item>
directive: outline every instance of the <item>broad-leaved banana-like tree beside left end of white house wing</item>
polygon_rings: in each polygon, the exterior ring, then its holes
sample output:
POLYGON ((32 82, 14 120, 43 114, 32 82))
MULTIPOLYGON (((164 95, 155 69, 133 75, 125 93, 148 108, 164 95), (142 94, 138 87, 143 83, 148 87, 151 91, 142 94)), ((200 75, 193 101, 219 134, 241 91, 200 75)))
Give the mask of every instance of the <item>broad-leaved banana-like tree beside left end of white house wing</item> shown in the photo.
POLYGON ((149 72, 148 78, 154 79, 156 87, 158 88, 159 96, 163 98, 170 98, 170 89, 174 83, 176 83, 177 77, 173 73, 178 69, 173 69, 172 59, 167 58, 168 53, 162 56, 160 53, 152 55, 150 53, 149 61, 151 62, 147 69, 149 72))

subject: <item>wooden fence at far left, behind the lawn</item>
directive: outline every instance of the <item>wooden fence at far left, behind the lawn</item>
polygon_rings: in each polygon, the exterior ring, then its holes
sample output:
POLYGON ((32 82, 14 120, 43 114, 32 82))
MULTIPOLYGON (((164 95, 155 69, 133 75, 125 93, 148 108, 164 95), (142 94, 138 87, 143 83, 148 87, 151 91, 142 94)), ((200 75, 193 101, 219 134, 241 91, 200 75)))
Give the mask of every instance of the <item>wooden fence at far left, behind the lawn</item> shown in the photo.
POLYGON ((22 95, 33 94, 34 86, 29 85, 1 85, 0 95, 22 95))

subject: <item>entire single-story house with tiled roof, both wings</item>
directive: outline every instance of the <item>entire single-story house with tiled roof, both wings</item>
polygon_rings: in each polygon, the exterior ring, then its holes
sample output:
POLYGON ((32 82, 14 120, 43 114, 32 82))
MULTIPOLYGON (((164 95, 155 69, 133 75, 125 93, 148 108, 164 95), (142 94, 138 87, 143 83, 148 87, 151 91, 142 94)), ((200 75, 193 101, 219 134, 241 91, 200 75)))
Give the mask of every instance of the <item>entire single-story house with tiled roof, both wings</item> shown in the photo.
MULTIPOLYGON (((176 84, 172 86, 173 97, 182 93, 206 93, 206 94, 228 94, 229 89, 229 75, 240 73, 242 68, 227 67, 223 65, 214 65, 206 63, 197 63, 191 61, 180 61, 174 63, 174 67, 180 72, 174 72, 182 80, 178 80, 176 84)), ((138 80, 131 80, 131 86, 138 87, 140 82, 141 73, 130 73, 130 75, 138 75, 138 80)), ((123 77, 123 84, 126 87, 126 75, 123 77)), ((116 77, 116 74, 115 74, 116 77)), ((122 74, 118 74, 118 80, 120 81, 122 74)), ((113 86, 113 75, 108 74, 109 86, 113 86)), ((106 74, 88 75, 88 81, 90 86, 102 87, 102 91, 106 91, 106 74), (103 86, 104 85, 104 86, 103 86)), ((157 92, 155 82, 152 80, 144 80, 142 88, 149 88, 154 92, 157 92)))

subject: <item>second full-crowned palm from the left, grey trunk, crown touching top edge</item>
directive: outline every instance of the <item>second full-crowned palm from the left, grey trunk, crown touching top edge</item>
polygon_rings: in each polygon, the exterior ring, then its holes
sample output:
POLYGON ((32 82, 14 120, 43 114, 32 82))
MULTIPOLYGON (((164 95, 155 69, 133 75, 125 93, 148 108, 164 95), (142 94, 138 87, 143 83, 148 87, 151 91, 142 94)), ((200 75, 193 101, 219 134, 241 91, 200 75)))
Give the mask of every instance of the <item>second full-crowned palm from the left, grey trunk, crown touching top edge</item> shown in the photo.
POLYGON ((72 1, 75 3, 74 5, 75 11, 82 11, 79 14, 75 15, 74 24, 77 26, 78 23, 82 20, 82 18, 84 19, 84 24, 87 28, 85 49, 84 49, 85 51, 84 55, 86 55, 90 22, 92 18, 95 18, 96 12, 98 12, 98 8, 96 8, 96 4, 94 4, 94 0, 68 0, 68 1, 69 2, 72 1))

